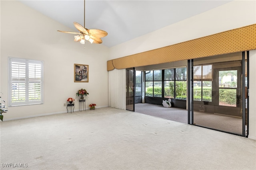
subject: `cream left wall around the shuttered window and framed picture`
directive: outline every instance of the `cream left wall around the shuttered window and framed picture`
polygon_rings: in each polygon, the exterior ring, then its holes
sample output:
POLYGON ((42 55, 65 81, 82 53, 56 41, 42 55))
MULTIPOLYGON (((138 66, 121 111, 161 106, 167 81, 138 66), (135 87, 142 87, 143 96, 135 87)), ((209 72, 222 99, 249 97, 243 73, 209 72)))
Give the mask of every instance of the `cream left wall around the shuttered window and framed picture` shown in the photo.
MULTIPOLYGON (((0 91, 8 105, 8 57, 44 61, 44 104, 8 107, 4 120, 48 113, 65 113, 68 97, 75 98, 78 110, 78 89, 89 95, 86 108, 108 106, 109 48, 104 45, 74 42, 74 35, 56 30, 68 27, 24 6, 19 1, 1 0, 1 68, 0 91), (89 65, 89 82, 74 82, 74 64, 89 65)), ((74 30, 76 31, 76 30, 74 30)))

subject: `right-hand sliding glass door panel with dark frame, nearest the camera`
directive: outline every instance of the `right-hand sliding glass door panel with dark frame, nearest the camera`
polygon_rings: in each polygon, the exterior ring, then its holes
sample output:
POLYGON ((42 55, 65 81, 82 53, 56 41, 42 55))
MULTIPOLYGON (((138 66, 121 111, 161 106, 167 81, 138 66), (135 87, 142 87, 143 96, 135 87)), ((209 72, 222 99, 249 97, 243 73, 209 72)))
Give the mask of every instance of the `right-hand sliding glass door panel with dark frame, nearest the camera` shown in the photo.
POLYGON ((194 59, 192 124, 244 136, 243 55, 194 59))

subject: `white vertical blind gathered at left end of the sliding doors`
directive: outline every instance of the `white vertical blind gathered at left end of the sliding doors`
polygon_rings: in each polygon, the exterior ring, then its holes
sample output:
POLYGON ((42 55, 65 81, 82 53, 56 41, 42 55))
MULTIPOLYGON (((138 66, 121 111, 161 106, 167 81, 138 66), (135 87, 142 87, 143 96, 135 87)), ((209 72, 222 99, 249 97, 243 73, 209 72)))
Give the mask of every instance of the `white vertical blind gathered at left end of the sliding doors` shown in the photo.
POLYGON ((126 109, 126 69, 108 71, 108 106, 126 109))

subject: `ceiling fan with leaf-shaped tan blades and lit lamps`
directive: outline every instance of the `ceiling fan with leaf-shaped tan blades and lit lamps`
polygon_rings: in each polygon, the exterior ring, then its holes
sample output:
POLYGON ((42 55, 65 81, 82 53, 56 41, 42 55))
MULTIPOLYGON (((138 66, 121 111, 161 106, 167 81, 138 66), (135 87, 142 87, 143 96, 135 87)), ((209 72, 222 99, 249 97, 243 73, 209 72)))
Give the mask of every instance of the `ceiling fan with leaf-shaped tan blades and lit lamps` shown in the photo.
POLYGON ((90 41, 90 43, 101 44, 102 43, 101 38, 108 35, 106 31, 103 31, 101 29, 87 29, 85 27, 85 0, 84 0, 84 26, 80 25, 77 22, 74 22, 74 26, 76 27, 76 29, 78 29, 78 31, 80 31, 80 33, 70 32, 70 31, 60 31, 60 30, 57 30, 57 31, 62 33, 79 34, 74 36, 75 37, 74 41, 76 42, 80 41, 81 44, 86 43, 86 40, 90 41))

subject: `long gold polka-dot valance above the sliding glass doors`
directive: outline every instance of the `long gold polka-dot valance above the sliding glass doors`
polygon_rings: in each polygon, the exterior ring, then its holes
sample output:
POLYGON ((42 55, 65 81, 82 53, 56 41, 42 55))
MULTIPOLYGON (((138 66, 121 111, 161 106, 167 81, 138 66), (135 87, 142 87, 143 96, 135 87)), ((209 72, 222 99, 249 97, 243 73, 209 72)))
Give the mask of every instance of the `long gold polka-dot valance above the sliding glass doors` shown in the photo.
POLYGON ((107 62, 107 70, 161 64, 256 49, 256 24, 107 62))

